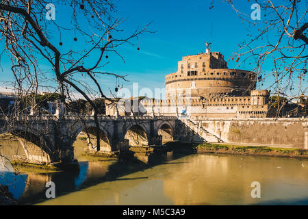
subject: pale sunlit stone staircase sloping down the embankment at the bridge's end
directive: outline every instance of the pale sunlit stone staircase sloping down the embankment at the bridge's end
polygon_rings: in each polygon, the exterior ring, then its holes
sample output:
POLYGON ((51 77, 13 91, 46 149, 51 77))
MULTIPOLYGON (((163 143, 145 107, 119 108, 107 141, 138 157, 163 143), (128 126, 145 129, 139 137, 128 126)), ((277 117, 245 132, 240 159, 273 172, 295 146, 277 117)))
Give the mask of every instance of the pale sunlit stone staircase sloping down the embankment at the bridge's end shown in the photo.
POLYGON ((213 133, 210 133, 202 125, 197 124, 189 118, 181 119, 181 122, 187 125, 191 131, 198 134, 201 138, 205 140, 205 142, 214 143, 214 142, 223 142, 218 136, 215 136, 213 133))

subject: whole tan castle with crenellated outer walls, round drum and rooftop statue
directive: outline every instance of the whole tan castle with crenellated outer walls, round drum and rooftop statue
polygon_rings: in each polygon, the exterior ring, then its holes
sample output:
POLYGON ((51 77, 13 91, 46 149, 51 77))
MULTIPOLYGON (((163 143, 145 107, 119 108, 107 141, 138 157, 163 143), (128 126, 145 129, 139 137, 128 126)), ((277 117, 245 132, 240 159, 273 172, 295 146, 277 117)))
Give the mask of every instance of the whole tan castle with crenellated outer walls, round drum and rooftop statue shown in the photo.
MULTIPOLYGON (((210 52, 184 56, 177 72, 166 75, 166 98, 144 98, 139 114, 209 118, 264 118, 274 116, 270 91, 255 90, 257 74, 229 69, 224 56, 210 52)), ((123 106, 123 109, 125 107, 123 106)), ((127 107, 126 107, 127 108, 127 107)), ((125 114, 130 114, 129 109, 125 114)), ((124 112, 119 112, 124 114, 124 112)), ((116 114, 107 109, 107 114, 116 114)))

